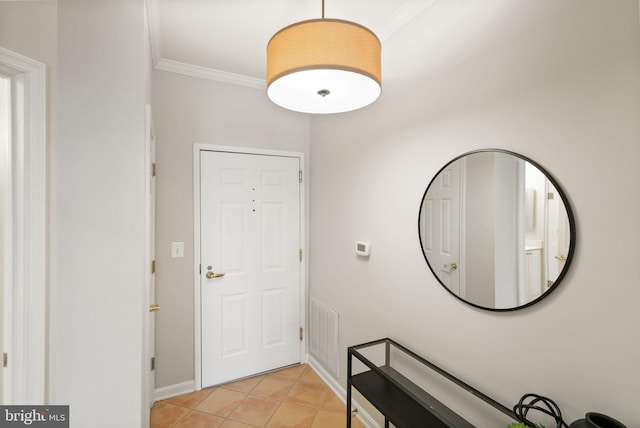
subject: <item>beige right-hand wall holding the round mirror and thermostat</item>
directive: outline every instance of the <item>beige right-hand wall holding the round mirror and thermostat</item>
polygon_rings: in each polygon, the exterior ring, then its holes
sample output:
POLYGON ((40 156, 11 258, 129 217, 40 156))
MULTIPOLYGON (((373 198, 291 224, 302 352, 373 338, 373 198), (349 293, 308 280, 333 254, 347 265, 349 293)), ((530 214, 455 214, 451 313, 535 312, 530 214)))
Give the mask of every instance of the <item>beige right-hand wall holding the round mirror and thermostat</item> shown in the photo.
MULTIPOLYGON (((346 347, 391 336, 509 407, 536 392, 569 421, 640 426, 638 16, 637 1, 435 2, 384 43, 379 101, 312 119, 310 297, 340 314, 343 386, 346 347), (578 228, 565 281, 509 313, 449 295, 417 234, 432 176, 489 147, 544 166, 578 228)), ((506 425, 451 401, 476 426, 506 425)))

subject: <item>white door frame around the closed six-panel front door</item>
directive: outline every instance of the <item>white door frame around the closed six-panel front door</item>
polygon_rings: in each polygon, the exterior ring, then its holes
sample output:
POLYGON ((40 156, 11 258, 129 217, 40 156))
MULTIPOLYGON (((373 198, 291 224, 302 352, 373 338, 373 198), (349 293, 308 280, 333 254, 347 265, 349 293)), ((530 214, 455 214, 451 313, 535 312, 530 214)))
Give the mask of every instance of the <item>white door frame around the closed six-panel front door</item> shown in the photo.
MULTIPOLYGON (((279 150, 253 149, 234 146, 219 146, 212 144, 194 144, 193 145, 193 304, 194 304, 194 356, 195 356, 195 389, 202 389, 202 325, 201 325, 201 308, 200 308, 200 152, 201 151, 217 151, 239 154, 254 154, 266 156, 288 156, 300 159, 300 170, 302 176, 304 173, 304 153, 287 152, 279 150)), ((305 240, 305 186, 300 186, 300 246, 305 256, 300 264, 300 323, 304 331, 306 326, 306 254, 307 244, 305 240)), ((306 362, 307 336, 304 335, 302 346, 300 347, 300 361, 306 362)))

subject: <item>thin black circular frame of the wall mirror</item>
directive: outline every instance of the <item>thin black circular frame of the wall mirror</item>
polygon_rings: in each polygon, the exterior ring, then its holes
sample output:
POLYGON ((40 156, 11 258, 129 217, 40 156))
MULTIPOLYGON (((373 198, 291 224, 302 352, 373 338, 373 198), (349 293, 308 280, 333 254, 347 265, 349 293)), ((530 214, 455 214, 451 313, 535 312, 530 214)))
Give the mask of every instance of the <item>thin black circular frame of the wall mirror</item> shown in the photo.
POLYGON ((420 206, 418 207, 418 238, 420 240, 420 250, 422 251, 422 255, 424 256, 424 259, 427 262, 427 266, 429 266, 429 269, 431 270, 431 273, 433 273, 433 276, 440 283, 440 285, 442 285, 442 287, 445 290, 447 290, 447 292, 449 292, 449 294, 454 296, 456 299, 466 303, 467 305, 473 306, 473 307, 478 308, 478 309, 482 309, 482 310, 485 310, 485 311, 492 311, 492 312, 510 312, 510 311, 516 311, 516 310, 524 309, 524 308, 527 308, 527 307, 529 307, 531 305, 534 305, 534 304, 538 303, 539 301, 541 301, 542 299, 544 299, 547 296, 549 296, 549 294, 551 294, 556 288, 558 288, 558 285, 560 285, 560 283, 562 282, 562 280, 566 276, 567 271, 569 270, 569 267, 571 266, 571 262, 573 261, 573 257, 574 257, 574 254, 575 254, 575 249, 576 249, 576 222, 575 222, 575 218, 574 218, 574 215, 573 215, 573 210, 571 209, 571 204, 569 203, 569 199, 567 198, 566 193, 564 192, 562 187, 558 184, 556 179, 549 173, 549 171, 547 171, 542 166, 540 166, 540 164, 538 164, 537 162, 529 159, 526 156, 523 156, 523 155, 515 153, 515 152, 511 152, 509 150, 504 150, 504 149, 479 149, 479 150, 473 150, 473 151, 470 151, 470 152, 467 152, 467 153, 463 153, 463 154, 455 157, 451 161, 447 162, 442 168, 440 168, 438 170, 438 172, 435 173, 435 175, 433 176, 433 178, 429 182, 429 185, 427 186, 427 189, 424 191, 424 193, 422 195, 422 199, 420 200, 420 206), (424 246, 423 246, 423 243, 422 243, 422 234, 420 233, 420 224, 421 224, 421 216, 422 216, 422 204, 424 203, 424 199, 427 196, 427 192, 431 188, 431 185, 434 183, 434 181, 440 175, 440 173, 442 171, 444 171, 444 169, 447 168, 450 164, 452 164, 453 162, 455 162, 455 161, 457 161, 457 160, 459 160, 459 159, 461 159, 463 157, 470 156, 470 155, 475 154, 475 153, 486 153, 486 152, 504 153, 504 154, 508 154, 508 155, 511 155, 511 156, 515 156, 515 157, 517 157, 519 159, 522 159, 525 162, 529 162, 531 165, 533 165, 536 168, 538 168, 540 170, 540 172, 542 172, 545 175, 545 177, 551 182, 551 184, 553 184, 553 186, 555 187, 557 192, 560 194, 560 197, 562 198, 562 202, 564 203, 565 209, 567 210, 567 218, 569 220, 569 235, 570 235, 571 242, 569 243, 569 252, 567 254, 566 263, 564 265, 564 268, 562 269, 562 271, 558 275, 558 278, 554 281, 553 285, 551 287, 549 287, 549 289, 547 291, 542 293, 538 298, 536 298, 536 299, 534 299, 534 300, 532 300, 530 302, 527 302, 524 305, 514 306, 514 307, 511 307, 511 308, 488 308, 488 307, 485 307, 485 306, 480 306, 480 305, 477 305, 477 304, 475 304, 473 302, 470 302, 468 300, 463 299, 462 297, 458 296, 453 291, 451 291, 440 280, 440 277, 436 274, 435 270, 431 266, 431 263, 429 263, 429 259, 427 258, 427 254, 424 251, 424 246))

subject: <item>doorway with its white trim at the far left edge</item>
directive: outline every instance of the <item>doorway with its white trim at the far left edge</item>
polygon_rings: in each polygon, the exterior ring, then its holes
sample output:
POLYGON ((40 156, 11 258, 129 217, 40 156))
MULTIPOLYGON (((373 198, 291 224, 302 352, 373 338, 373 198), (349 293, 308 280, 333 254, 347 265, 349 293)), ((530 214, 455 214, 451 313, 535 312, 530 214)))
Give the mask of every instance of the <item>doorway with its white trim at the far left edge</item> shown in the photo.
POLYGON ((46 402, 45 69, 0 48, 3 404, 46 402))

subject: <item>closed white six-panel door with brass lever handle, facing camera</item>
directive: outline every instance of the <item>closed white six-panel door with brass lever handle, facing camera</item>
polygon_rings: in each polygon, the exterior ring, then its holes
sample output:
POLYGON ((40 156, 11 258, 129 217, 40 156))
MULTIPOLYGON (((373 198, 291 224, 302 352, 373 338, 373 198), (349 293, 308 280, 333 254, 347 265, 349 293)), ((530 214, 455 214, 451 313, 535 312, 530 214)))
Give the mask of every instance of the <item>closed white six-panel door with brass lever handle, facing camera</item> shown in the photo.
POLYGON ((299 171, 200 151, 202 387, 300 362, 299 171))

